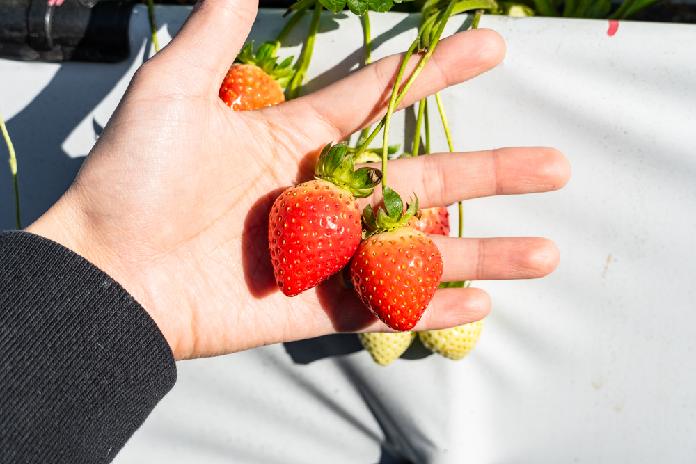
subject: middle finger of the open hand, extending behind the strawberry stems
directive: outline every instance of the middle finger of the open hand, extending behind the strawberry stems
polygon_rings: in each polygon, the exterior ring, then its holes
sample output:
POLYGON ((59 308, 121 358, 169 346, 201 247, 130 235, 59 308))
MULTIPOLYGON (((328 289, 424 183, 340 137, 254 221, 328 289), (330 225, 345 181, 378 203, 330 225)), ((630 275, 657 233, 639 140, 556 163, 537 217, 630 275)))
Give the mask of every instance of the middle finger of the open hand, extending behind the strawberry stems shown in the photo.
MULTIPOLYGON (((379 163, 367 166, 381 168, 379 163)), ((518 195, 560 189, 570 179, 570 163, 546 147, 500 148, 483 152, 427 154, 389 161, 388 182, 404 201, 418 196, 420 208, 451 205, 470 198, 518 195)), ((377 205, 381 189, 364 204, 377 205)))

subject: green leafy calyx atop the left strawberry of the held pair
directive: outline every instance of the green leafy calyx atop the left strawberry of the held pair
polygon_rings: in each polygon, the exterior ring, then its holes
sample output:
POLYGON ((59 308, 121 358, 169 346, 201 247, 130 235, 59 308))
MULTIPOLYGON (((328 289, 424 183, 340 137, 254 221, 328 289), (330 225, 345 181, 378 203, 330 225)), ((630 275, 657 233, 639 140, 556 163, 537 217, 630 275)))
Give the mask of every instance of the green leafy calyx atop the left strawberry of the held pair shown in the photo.
POLYGON ((372 195, 374 187, 382 180, 382 172, 375 168, 355 169, 353 155, 346 143, 327 144, 319 155, 314 169, 317 179, 322 179, 350 192, 356 198, 372 195))

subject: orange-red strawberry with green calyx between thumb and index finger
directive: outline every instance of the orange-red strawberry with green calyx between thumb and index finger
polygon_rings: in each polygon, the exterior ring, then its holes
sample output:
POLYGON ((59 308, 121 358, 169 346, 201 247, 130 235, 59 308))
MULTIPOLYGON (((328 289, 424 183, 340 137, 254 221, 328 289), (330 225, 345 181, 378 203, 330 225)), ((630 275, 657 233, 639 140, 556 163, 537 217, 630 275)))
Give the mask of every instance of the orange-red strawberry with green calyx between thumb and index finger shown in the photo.
POLYGON ((252 43, 248 43, 230 67, 220 86, 219 97, 235 111, 260 109, 285 102, 283 86, 292 78, 292 57, 276 65, 278 57, 272 56, 275 42, 267 42, 253 55, 252 43))

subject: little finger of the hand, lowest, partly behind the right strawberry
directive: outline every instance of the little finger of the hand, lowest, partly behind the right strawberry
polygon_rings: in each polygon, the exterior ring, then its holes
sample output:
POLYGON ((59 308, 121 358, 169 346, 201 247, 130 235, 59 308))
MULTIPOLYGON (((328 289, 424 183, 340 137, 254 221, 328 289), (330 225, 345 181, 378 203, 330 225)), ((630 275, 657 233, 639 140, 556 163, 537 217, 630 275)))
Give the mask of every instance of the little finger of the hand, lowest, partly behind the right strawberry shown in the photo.
MULTIPOLYGON (((358 308, 361 310, 362 308, 358 308)), ((365 308, 367 310, 367 308, 365 308)), ((439 289, 418 321, 414 332, 440 330, 480 321, 491 312, 491 297, 482 289, 439 289)), ((374 318, 361 332, 396 332, 374 318)))

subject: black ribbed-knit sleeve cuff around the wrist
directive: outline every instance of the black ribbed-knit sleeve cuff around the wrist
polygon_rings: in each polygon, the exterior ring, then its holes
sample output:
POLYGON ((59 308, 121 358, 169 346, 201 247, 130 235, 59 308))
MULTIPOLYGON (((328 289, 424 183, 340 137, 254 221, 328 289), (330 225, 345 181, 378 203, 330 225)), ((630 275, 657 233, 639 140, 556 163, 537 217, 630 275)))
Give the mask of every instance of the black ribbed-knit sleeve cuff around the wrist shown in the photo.
POLYGON ((155 321, 109 275, 0 234, 0 463, 108 463, 175 381, 155 321))

